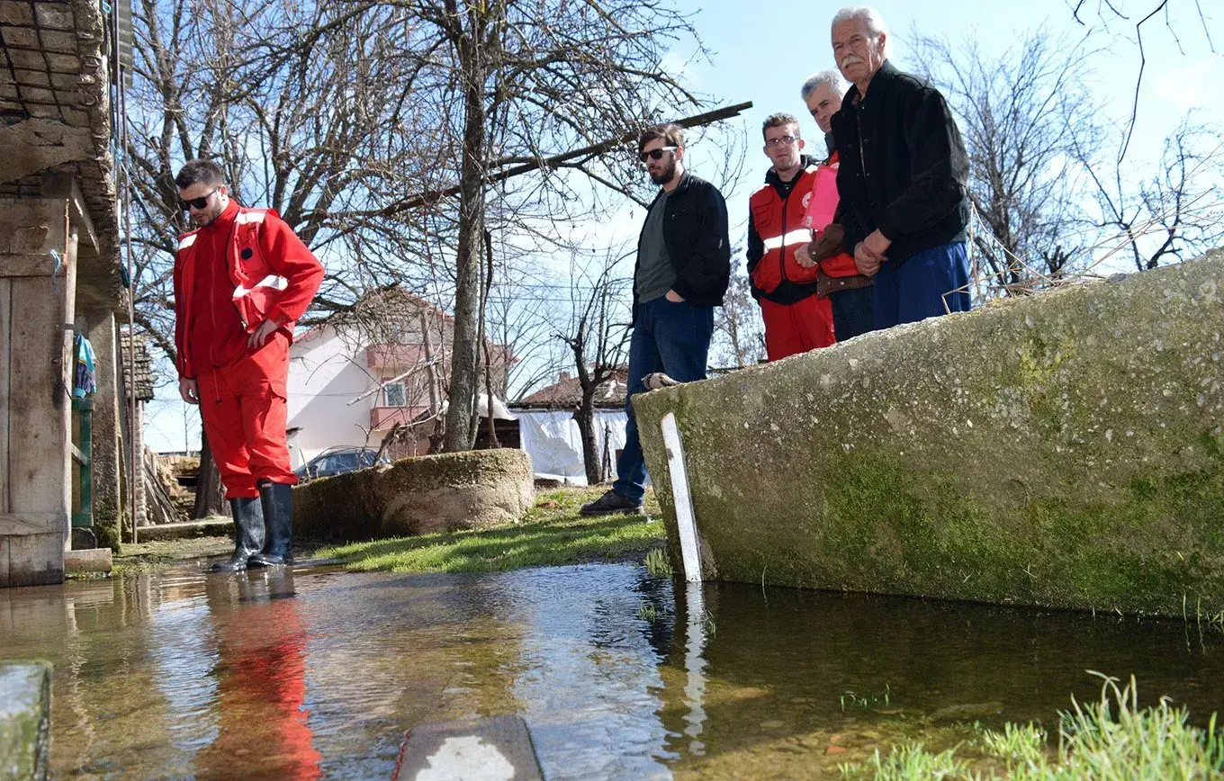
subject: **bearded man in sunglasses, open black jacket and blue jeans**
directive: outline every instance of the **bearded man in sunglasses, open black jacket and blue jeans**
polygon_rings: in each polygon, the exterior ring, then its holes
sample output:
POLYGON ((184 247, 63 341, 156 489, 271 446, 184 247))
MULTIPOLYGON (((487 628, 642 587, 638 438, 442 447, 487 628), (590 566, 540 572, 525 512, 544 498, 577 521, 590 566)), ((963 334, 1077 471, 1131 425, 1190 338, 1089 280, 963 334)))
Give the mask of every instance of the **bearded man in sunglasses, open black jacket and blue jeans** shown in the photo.
POLYGON ((705 379, 714 307, 731 280, 727 204, 710 182, 684 170, 684 131, 656 125, 638 138, 638 155, 662 189, 646 212, 633 273, 633 337, 624 411, 624 450, 612 490, 583 506, 584 515, 640 513, 646 463, 629 398, 643 378, 665 372, 679 382, 705 379))

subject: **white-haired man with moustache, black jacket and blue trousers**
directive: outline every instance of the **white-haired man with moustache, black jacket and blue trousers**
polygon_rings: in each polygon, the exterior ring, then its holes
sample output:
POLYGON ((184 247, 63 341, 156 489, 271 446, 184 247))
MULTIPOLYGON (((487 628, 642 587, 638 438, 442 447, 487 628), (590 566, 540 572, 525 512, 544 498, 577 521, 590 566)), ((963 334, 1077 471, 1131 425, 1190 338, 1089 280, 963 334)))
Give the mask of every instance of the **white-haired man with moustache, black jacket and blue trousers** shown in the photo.
POLYGON ((834 56, 853 83, 834 115, 843 246, 875 277, 875 328, 969 308, 969 165, 947 103, 887 61, 874 9, 834 16, 834 56))

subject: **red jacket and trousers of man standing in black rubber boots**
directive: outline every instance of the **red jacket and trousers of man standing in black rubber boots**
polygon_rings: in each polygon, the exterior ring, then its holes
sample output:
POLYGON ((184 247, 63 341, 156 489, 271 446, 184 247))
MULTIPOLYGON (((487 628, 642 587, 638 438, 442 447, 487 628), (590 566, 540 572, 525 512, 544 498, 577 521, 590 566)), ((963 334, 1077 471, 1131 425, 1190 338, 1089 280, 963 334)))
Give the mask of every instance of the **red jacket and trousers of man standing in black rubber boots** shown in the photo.
POLYGON ((322 279, 318 260, 272 209, 230 201, 215 223, 179 240, 179 376, 197 382, 204 433, 228 498, 259 496, 261 480, 297 482, 285 441, 289 344, 322 279), (247 348, 246 335, 266 320, 280 328, 262 348, 247 348))

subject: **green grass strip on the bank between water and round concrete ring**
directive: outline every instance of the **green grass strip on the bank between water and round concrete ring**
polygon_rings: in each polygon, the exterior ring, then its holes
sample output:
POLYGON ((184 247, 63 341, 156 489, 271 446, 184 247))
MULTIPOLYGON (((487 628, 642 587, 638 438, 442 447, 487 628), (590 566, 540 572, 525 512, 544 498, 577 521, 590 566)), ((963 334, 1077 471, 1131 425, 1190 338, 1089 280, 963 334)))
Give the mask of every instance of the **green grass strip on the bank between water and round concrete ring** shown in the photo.
POLYGON ((536 496, 521 521, 481 531, 356 542, 316 551, 362 572, 499 572, 523 567, 596 561, 641 561, 665 540, 657 504, 647 493, 647 515, 578 514, 606 488, 562 488, 536 496))

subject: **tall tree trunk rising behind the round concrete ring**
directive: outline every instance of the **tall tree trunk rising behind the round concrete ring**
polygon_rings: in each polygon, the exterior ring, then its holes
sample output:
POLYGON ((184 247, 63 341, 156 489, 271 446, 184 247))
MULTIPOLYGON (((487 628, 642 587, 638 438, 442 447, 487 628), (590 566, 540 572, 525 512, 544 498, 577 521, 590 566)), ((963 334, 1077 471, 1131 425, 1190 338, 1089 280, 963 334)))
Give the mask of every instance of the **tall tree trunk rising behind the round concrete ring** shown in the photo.
POLYGON ((463 164, 459 174, 459 240, 455 262, 455 323, 450 356, 450 406, 442 449, 470 450, 476 443, 480 388, 479 315, 481 241, 485 236, 485 53, 471 31, 464 56, 463 164))

